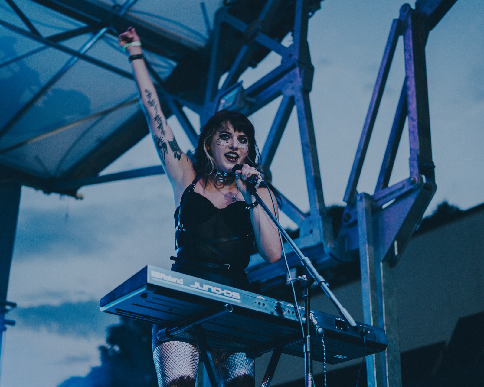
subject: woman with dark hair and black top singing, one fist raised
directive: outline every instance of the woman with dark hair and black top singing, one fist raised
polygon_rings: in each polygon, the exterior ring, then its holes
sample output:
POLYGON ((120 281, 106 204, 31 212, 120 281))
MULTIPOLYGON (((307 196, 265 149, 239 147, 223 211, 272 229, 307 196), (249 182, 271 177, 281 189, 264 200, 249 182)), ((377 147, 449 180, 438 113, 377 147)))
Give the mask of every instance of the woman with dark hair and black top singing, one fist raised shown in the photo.
MULTIPOLYGON (((267 262, 281 256, 276 227, 257 206, 246 180, 259 175, 254 126, 241 113, 219 111, 201 129, 195 151, 196 163, 181 151, 166 123, 158 96, 148 74, 139 37, 129 28, 119 36, 127 49, 153 140, 175 203, 175 247, 171 269, 217 283, 248 289, 244 268, 254 241, 267 262), (232 168, 242 169, 232 174, 232 168)), ((266 203, 269 190, 257 189, 266 203)), ((275 201, 274 201, 275 203, 275 201)), ((272 207, 272 204, 271 206, 272 207)), ((274 204, 277 213, 277 204, 274 204)), ((199 352, 191 332, 160 342, 153 326, 153 358, 160 387, 194 387, 199 352)), ((222 387, 254 386, 254 360, 236 344, 209 342, 213 363, 222 387)))

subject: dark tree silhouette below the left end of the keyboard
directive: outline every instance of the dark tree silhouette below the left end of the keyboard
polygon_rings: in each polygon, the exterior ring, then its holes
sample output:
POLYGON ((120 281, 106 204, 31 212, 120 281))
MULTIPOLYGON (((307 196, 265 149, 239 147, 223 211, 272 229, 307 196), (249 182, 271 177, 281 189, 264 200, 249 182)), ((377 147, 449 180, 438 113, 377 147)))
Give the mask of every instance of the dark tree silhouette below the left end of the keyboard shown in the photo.
POLYGON ((120 324, 107 328, 106 345, 99 347, 101 365, 91 368, 86 376, 65 380, 59 387, 157 387, 151 327, 121 317, 120 324))

